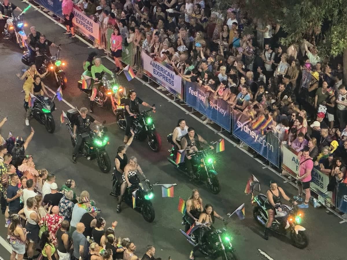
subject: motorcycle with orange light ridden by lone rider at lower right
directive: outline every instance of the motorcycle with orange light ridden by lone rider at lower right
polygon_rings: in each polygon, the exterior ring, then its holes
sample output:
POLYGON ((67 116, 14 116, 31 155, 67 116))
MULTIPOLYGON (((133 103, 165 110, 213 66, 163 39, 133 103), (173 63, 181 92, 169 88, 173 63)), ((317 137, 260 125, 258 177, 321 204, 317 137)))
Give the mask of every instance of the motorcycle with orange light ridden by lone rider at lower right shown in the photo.
MULTIPOLYGON (((259 194, 253 198, 253 217, 256 222, 265 227, 268 221, 268 215, 264 207, 266 201, 264 194, 259 194)), ((301 224, 303 214, 298 210, 298 207, 287 206, 285 204, 278 203, 282 211, 276 209, 276 214, 270 229, 277 234, 290 236, 293 245, 297 248, 303 249, 308 245, 308 238, 304 231, 306 228, 299 225, 301 224)))

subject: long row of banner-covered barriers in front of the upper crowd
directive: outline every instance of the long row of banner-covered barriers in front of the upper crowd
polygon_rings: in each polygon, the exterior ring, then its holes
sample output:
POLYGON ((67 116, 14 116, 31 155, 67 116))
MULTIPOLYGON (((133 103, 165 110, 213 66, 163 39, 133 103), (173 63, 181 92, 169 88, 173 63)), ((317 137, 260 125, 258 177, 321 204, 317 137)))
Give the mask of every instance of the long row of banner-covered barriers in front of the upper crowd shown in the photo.
MULTIPOLYGON (((34 0, 34 2, 50 10, 56 16, 62 17, 59 0, 34 0)), ((77 30, 94 43, 102 46, 110 55, 110 37, 113 29, 95 23, 76 5, 74 15, 73 23, 77 30)), ((194 110, 231 132, 273 165, 288 172, 290 177, 297 176, 299 161, 295 150, 286 144, 281 144, 278 137, 271 132, 263 133, 253 129, 251 120, 245 114, 232 110, 226 101, 214 98, 199 84, 184 81, 179 75, 176 75, 170 64, 152 58, 142 50, 141 46, 135 46, 133 43, 123 43, 122 61, 137 70, 137 76, 142 77, 144 74, 149 80, 166 88, 175 97, 184 99, 185 103, 194 110)), ((319 201, 327 207, 335 206, 340 213, 347 214, 346 184, 335 182, 334 185, 335 180, 331 180, 331 177, 322 173, 318 167, 314 167, 311 175, 310 189, 318 194, 319 201), (328 191, 328 185, 330 191, 328 191)))

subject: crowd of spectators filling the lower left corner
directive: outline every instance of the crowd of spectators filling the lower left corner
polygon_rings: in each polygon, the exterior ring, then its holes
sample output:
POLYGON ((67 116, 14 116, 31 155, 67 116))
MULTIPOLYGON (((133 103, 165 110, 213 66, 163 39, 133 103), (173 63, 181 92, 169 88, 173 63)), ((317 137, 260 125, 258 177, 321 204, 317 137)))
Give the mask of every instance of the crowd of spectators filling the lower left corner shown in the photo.
MULTIPOLYGON (((54 173, 36 170, 33 156, 25 155, 33 135, 33 129, 26 140, 0 135, 0 203, 12 249, 5 258, 138 259, 135 244, 117 236, 117 221, 107 227, 88 191, 76 196, 73 179, 58 188, 54 173)), ((154 254, 154 246, 147 245, 142 259, 156 259, 154 254)))

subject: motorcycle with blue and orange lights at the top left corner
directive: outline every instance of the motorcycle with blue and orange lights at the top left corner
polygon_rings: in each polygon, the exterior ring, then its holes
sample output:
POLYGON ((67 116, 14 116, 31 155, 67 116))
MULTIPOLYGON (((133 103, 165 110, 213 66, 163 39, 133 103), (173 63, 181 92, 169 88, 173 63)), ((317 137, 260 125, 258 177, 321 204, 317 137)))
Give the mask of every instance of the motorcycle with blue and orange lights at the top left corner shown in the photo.
MULTIPOLYGON (((14 14, 13 14, 14 15, 14 14)), ((6 20, 6 26, 2 32, 2 35, 9 38, 12 41, 16 41, 20 49, 27 50, 26 40, 27 35, 25 34, 24 27, 28 24, 24 23, 23 15, 14 16, 6 20)))

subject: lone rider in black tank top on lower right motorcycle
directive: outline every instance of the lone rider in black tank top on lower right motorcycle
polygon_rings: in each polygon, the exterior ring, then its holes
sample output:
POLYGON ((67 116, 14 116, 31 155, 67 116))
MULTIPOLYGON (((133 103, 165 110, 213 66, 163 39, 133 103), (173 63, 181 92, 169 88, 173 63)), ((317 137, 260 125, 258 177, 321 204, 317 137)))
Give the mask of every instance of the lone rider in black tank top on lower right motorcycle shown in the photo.
MULTIPOLYGON (((266 212, 268 213, 268 221, 266 222, 265 225, 265 231, 264 231, 264 239, 268 240, 268 231, 272 225, 273 218, 275 216, 275 209, 278 209, 278 211, 282 211, 280 208, 280 203, 281 203, 281 196, 283 199, 293 202, 283 191, 283 189, 279 186, 277 186, 276 181, 270 181, 270 189, 266 192, 266 197, 268 198, 265 203, 264 207, 266 209, 266 212)), ((296 205, 297 202, 294 201, 294 204, 296 205)))

